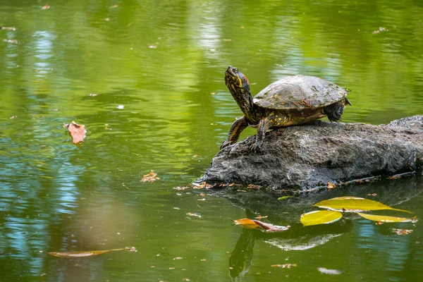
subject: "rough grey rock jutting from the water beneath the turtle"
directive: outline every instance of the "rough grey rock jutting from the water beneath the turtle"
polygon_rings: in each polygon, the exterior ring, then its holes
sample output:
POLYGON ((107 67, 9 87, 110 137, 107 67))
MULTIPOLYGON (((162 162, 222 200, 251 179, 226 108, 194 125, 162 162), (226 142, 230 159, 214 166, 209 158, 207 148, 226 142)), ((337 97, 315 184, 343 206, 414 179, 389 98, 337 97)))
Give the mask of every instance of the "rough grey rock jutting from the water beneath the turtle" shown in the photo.
POLYGON ((222 149, 200 180, 305 190, 369 176, 421 171, 423 116, 388 125, 314 121, 266 133, 259 152, 255 136, 222 149))

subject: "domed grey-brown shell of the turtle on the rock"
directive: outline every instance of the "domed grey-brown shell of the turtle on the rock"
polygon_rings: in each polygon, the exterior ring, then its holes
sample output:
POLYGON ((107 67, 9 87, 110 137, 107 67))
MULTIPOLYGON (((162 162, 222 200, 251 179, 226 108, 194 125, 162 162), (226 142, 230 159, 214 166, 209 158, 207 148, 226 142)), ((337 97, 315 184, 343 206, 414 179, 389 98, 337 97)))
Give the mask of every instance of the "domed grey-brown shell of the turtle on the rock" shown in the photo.
POLYGON ((348 90, 323 78, 295 75, 271 83, 254 98, 266 109, 304 109, 328 106, 345 98, 348 90))

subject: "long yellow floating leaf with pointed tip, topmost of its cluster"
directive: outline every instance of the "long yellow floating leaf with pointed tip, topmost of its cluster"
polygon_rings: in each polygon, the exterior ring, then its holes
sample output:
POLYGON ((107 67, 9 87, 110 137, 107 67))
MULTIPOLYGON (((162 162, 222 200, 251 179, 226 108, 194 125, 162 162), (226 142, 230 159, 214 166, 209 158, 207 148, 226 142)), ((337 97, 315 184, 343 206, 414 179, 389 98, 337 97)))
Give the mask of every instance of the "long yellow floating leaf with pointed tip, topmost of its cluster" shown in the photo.
MULTIPOLYGON (((392 207, 386 206, 386 204, 359 197, 336 197, 333 199, 318 202, 313 206, 343 212, 368 212, 377 211, 381 209, 391 209, 399 212, 408 212, 403 209, 394 209, 392 207)), ((408 213, 412 214, 412 212, 408 213)))

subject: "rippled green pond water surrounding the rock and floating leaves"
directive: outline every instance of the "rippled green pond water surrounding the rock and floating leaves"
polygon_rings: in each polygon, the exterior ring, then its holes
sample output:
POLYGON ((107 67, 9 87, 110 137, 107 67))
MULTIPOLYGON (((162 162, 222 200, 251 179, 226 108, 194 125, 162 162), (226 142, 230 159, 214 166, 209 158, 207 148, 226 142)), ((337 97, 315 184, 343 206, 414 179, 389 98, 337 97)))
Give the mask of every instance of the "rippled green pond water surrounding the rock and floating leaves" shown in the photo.
POLYGON ((223 82, 228 65, 247 75, 253 93, 295 74, 348 87, 345 122, 423 114, 421 1, 1 0, 0 7, 0 26, 13 27, 0 30, 0 281, 422 279, 419 222, 299 224, 309 204, 341 195, 421 218, 421 177, 285 202, 173 189, 202 175, 241 116, 223 82), (71 121, 87 129, 82 149, 62 128, 71 121), (160 179, 140 182, 151 170, 160 179), (229 219, 258 213, 292 227, 275 235, 231 226, 229 219), (47 255, 125 246, 137 252, 47 255))

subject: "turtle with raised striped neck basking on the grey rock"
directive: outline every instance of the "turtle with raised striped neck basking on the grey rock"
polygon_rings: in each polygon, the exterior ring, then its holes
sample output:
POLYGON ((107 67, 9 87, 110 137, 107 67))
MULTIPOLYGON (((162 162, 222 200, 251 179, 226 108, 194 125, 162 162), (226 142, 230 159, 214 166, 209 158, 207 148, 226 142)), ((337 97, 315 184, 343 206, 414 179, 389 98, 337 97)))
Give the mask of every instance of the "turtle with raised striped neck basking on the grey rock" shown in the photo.
POLYGON ((231 125, 221 149, 235 144, 240 133, 251 126, 257 135, 250 151, 256 152, 263 144, 267 130, 309 123, 327 116, 329 121, 341 120, 350 90, 310 75, 295 75, 271 83, 254 98, 250 82, 238 68, 228 66, 225 84, 244 116, 231 125))

